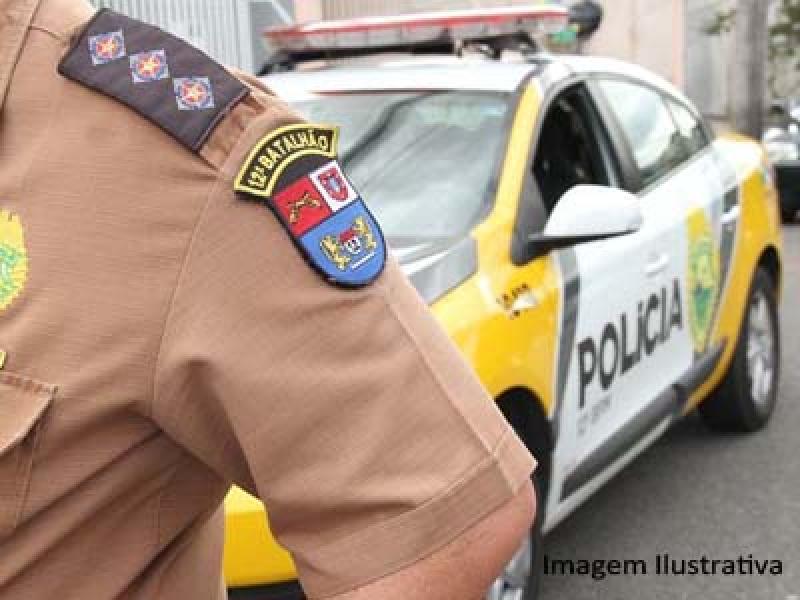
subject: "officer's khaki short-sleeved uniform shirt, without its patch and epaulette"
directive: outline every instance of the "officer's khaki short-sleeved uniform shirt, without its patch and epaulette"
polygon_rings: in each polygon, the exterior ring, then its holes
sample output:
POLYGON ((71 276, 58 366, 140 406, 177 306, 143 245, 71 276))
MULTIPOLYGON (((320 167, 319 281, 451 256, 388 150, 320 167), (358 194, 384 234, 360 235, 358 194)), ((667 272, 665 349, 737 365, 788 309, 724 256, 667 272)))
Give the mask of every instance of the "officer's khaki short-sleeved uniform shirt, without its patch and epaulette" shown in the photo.
POLYGON ((314 597, 430 554, 533 460, 390 259, 316 274, 233 180, 298 117, 191 152, 57 64, 92 10, 0 0, 0 598, 219 599, 259 496, 314 597))

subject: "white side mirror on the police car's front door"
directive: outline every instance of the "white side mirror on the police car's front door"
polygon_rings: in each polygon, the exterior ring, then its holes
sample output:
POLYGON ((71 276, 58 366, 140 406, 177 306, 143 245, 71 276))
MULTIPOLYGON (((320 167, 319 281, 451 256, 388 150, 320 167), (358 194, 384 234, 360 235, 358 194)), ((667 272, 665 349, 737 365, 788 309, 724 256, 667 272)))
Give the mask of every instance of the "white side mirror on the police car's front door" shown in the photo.
POLYGON ((556 203, 544 232, 530 236, 536 254, 596 242, 638 231, 642 226, 639 199, 625 190, 578 185, 556 203))

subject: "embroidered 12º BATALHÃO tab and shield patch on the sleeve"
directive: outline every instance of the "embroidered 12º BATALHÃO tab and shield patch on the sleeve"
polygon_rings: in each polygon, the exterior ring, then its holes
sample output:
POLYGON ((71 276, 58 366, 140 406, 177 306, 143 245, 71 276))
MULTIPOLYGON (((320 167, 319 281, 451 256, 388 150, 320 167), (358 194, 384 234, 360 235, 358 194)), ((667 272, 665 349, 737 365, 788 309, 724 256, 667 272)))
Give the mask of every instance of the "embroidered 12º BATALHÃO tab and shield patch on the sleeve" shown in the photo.
POLYGON ((386 243, 336 160, 338 138, 324 125, 276 129, 250 152, 234 189, 262 199, 328 281, 362 287, 383 271, 386 243))

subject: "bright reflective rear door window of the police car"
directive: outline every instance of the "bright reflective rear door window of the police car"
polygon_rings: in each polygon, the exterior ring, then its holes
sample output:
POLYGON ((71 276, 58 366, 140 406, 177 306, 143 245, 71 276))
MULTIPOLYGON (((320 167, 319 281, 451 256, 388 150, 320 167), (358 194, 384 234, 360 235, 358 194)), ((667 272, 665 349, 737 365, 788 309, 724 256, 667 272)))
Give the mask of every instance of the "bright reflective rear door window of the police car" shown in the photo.
POLYGON ((630 144, 642 187, 688 158, 683 136, 661 94, 628 81, 605 80, 599 85, 630 144))

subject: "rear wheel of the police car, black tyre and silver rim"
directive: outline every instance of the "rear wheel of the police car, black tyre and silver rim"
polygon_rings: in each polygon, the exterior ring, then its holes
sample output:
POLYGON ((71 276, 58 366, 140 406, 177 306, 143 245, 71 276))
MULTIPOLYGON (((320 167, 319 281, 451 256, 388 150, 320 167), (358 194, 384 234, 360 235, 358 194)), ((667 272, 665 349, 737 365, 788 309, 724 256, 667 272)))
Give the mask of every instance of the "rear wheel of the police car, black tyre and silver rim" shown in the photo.
POLYGON ((780 363, 775 284, 759 268, 750 288, 744 324, 728 373, 717 390, 699 406, 703 420, 718 431, 761 429, 775 409, 780 363))

